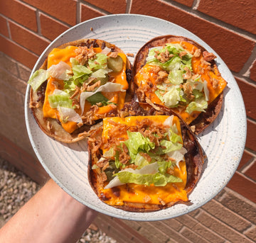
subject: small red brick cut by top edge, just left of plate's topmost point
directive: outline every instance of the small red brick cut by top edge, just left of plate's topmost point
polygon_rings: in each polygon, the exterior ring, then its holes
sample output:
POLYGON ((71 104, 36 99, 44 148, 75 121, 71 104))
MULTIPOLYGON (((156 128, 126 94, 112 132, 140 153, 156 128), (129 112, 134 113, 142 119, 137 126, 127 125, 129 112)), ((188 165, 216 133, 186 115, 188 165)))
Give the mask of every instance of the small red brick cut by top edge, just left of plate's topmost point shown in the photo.
POLYGON ((88 3, 97 6, 100 9, 104 9, 110 13, 125 13, 127 7, 126 0, 86 0, 88 3))

